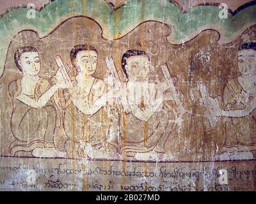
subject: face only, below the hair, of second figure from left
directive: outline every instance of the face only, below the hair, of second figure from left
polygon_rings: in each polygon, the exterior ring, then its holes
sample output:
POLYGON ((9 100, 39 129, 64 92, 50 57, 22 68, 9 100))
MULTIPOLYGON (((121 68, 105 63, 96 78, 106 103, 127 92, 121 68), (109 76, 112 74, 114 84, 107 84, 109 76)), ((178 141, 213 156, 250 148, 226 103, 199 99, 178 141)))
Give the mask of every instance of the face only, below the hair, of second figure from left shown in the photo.
POLYGON ((92 75, 98 62, 97 52, 93 50, 83 50, 76 55, 76 66, 85 75, 92 75))

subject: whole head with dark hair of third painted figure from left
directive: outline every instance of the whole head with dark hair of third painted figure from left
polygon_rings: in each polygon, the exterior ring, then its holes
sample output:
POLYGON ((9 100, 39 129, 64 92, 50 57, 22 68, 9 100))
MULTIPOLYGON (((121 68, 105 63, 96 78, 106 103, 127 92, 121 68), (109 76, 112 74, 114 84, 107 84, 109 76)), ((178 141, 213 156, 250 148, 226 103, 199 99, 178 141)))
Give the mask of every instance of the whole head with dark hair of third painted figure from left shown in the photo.
POLYGON ((128 50, 122 56, 122 68, 129 80, 144 81, 148 79, 149 56, 141 50, 128 50))

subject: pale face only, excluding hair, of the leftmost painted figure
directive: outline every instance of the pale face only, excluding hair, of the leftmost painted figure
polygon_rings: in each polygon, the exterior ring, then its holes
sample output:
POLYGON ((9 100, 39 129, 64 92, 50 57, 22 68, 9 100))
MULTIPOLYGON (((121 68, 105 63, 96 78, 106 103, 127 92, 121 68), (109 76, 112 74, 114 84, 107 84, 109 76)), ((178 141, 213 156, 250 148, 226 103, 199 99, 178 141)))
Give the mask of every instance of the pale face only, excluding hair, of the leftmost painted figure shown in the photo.
POLYGON ((40 71, 40 58, 38 52, 24 52, 18 61, 25 75, 38 75, 40 71))

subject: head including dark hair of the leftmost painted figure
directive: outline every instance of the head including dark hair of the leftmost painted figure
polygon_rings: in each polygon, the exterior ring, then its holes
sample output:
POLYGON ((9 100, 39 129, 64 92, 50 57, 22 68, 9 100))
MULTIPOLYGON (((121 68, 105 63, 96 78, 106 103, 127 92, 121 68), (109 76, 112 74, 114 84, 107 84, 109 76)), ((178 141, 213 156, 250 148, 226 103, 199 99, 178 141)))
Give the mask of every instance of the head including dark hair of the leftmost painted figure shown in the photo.
POLYGON ((40 58, 34 47, 19 48, 14 54, 14 61, 24 75, 35 76, 40 71, 40 58))

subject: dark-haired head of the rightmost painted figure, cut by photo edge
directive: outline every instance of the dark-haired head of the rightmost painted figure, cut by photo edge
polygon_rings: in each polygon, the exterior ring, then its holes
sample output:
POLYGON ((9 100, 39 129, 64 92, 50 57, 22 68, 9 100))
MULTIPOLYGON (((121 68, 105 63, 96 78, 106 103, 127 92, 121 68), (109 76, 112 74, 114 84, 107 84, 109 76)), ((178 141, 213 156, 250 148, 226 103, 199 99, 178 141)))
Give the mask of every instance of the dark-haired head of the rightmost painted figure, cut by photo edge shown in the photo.
POLYGON ((242 75, 256 73, 256 42, 244 43, 239 47, 238 68, 242 75))

